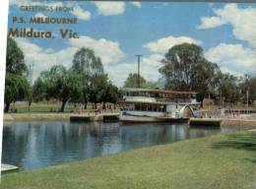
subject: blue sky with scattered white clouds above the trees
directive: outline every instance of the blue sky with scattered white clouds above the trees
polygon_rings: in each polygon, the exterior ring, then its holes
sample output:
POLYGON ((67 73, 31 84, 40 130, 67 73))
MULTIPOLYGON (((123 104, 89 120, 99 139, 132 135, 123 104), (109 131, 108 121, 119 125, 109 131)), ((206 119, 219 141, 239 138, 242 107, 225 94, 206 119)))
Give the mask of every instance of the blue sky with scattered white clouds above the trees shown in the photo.
POLYGON ((78 39, 15 38, 23 49, 32 79, 52 65, 72 65, 81 47, 94 49, 109 79, 121 87, 129 73, 137 72, 136 54, 144 55, 141 74, 160 79, 160 60, 169 48, 196 43, 205 57, 223 72, 236 76, 256 72, 256 4, 164 2, 50 2, 10 0, 9 28, 33 28, 58 33, 78 32, 78 39), (72 6, 72 13, 23 12, 22 5, 72 6), (17 25, 12 18, 77 17, 78 25, 17 25))

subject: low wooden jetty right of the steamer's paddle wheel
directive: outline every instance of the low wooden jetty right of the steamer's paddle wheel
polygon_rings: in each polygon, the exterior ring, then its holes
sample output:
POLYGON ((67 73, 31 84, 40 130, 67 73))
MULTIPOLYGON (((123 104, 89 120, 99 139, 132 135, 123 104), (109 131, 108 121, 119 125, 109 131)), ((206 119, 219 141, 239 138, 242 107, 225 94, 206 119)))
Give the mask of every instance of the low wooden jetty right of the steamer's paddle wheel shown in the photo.
POLYGON ((220 118, 190 118, 189 126, 215 126, 221 127, 223 119, 220 118))

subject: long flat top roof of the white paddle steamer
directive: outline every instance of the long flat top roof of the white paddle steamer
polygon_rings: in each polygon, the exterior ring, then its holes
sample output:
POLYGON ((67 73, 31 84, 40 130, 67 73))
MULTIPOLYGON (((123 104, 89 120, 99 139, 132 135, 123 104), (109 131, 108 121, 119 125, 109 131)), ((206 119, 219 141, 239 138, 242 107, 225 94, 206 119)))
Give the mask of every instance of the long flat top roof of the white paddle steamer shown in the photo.
POLYGON ((125 92, 145 92, 145 93, 152 93, 152 94, 172 94, 172 95, 196 95, 196 92, 174 92, 174 91, 167 91, 167 90, 151 90, 151 89, 141 89, 141 88, 123 88, 125 92))

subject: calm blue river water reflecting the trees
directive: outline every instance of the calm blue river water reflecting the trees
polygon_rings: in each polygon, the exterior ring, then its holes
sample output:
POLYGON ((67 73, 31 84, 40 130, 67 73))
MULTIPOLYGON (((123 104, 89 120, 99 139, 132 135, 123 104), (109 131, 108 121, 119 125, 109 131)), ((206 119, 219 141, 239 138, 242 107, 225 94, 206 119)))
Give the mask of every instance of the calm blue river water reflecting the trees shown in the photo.
POLYGON ((183 124, 162 123, 125 126, 59 120, 5 123, 3 162, 32 169, 235 130, 188 129, 183 124))

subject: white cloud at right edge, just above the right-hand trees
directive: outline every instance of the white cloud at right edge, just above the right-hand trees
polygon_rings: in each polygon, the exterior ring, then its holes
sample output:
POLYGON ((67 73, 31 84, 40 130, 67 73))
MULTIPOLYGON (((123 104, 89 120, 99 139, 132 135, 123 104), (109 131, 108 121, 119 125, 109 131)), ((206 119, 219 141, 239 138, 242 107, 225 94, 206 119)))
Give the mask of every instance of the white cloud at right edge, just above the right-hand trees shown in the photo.
POLYGON ((221 43, 210 48, 205 56, 218 63, 222 71, 235 75, 244 75, 256 71, 256 50, 245 48, 241 44, 221 43))

